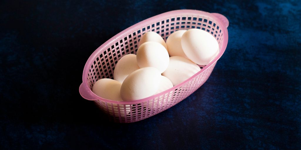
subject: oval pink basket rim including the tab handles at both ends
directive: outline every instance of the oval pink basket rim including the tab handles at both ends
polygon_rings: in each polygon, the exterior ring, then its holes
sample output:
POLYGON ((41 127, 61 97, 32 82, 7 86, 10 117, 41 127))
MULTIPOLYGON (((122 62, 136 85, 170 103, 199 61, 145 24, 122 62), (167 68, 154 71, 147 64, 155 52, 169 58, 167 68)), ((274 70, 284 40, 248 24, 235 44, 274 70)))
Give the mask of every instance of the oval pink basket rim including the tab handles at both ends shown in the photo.
MULTIPOLYGON (((179 88, 180 86, 184 85, 185 83, 189 82, 191 79, 193 79, 194 77, 198 76, 199 74, 203 73, 204 71, 206 71, 209 67, 211 67, 213 64, 216 63, 216 61, 219 60, 219 58, 221 58, 221 56, 223 55, 223 53, 225 52, 225 49, 227 47, 227 44, 228 44, 228 30, 227 30, 227 27, 228 27, 228 24, 225 23, 224 20, 222 20, 223 18, 226 19, 225 16, 219 14, 219 13, 209 13, 209 12, 205 12, 205 11, 201 11, 201 10, 190 10, 190 9, 184 9, 184 10, 172 10, 172 11, 168 11, 168 12, 165 12, 165 13, 161 13, 159 15, 156 15, 156 16, 153 16, 153 17, 150 17, 148 19, 145 19, 141 22, 138 22, 132 26, 130 26, 129 28, 127 29, 124 29, 123 31, 119 32, 117 35, 113 36, 112 38, 110 38, 109 40, 107 40, 104 44, 102 44, 101 46, 99 46, 91 55, 90 57, 88 58, 86 64, 85 64, 85 67, 84 67, 84 70, 83 70, 83 74, 82 74, 82 83, 79 87, 79 92, 80 92, 80 95, 85 98, 85 96, 82 94, 84 92, 88 92, 89 95, 92 95, 93 98, 90 98, 90 99, 87 99, 87 100, 91 100, 91 101, 95 101, 95 100, 101 100, 101 101, 104 101, 104 102, 107 102, 107 103, 113 103, 113 104, 138 104, 138 103, 141 103, 141 102, 144 102, 144 101, 148 101, 148 100, 151 100, 153 98, 159 98, 162 94, 166 93, 167 91, 173 91, 177 88, 179 88), (210 18, 213 18, 216 22, 218 22, 220 24, 219 28, 223 31, 223 35, 224 35, 224 39, 222 41, 222 48, 220 49, 219 51, 219 54, 216 56, 216 58, 213 59, 213 61, 211 61, 208 65, 206 65, 205 67, 203 67, 203 69, 201 69, 199 72, 195 73, 193 76, 191 76, 190 78, 186 79, 185 81, 183 81, 182 83, 178 84, 178 85, 175 85, 174 87, 172 88, 169 88, 165 91, 162 91, 160 93, 157 93, 155 95, 152 95, 150 97, 147 97, 147 98, 143 98, 143 99, 140 99, 140 100, 134 100, 134 101, 113 101, 113 100, 109 100, 109 99, 105 99, 105 98, 101 98, 99 96, 97 96, 96 94, 94 94, 92 92, 92 90, 89 88, 89 85, 87 82, 85 82, 86 78, 87 78, 87 74, 89 72, 89 68, 90 68, 90 64, 93 63, 94 61, 94 58, 98 56, 98 53, 101 51, 101 49, 104 49, 106 48, 107 46, 109 46, 110 43, 112 43, 113 41, 115 41, 116 39, 119 39, 121 38, 125 33, 133 30, 133 29, 136 29, 136 28, 139 28, 145 24, 149 24, 151 22, 156 22, 158 21, 158 19, 160 18, 163 18, 163 17, 166 17, 166 16, 170 16, 170 15, 181 15, 183 13, 190 13, 191 15, 205 15, 205 16, 208 16, 210 18), (82 91, 81 88, 85 89, 86 91, 82 91)), ((227 20, 228 21, 228 20, 227 20)))

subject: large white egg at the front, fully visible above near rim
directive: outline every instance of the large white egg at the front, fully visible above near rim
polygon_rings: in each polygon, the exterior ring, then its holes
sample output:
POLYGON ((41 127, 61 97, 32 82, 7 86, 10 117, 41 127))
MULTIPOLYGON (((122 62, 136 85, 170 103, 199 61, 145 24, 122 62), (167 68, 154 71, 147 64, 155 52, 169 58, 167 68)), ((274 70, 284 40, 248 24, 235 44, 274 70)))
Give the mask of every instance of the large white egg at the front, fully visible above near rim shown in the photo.
POLYGON ((123 101, 134 101, 156 94, 160 85, 160 72, 154 67, 144 67, 132 72, 123 81, 120 94, 123 101))

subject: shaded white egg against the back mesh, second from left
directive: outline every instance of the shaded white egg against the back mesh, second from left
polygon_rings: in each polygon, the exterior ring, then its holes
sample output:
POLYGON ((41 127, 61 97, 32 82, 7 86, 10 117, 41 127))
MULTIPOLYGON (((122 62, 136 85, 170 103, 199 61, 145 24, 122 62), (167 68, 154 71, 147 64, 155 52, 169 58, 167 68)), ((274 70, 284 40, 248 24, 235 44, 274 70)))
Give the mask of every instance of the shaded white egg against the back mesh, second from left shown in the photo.
POLYGON ((137 63, 136 55, 124 55, 116 64, 113 77, 115 80, 122 83, 130 73, 137 69, 139 69, 139 66, 137 63))

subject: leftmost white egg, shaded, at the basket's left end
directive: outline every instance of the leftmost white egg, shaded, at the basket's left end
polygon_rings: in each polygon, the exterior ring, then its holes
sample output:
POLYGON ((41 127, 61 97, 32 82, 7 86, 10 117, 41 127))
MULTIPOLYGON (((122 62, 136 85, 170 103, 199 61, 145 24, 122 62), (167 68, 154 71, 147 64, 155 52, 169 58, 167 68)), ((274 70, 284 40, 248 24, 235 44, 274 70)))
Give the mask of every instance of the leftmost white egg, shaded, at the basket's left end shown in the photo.
POLYGON ((99 79, 93 85, 92 91, 101 98, 122 101, 120 96, 121 83, 113 79, 99 79))

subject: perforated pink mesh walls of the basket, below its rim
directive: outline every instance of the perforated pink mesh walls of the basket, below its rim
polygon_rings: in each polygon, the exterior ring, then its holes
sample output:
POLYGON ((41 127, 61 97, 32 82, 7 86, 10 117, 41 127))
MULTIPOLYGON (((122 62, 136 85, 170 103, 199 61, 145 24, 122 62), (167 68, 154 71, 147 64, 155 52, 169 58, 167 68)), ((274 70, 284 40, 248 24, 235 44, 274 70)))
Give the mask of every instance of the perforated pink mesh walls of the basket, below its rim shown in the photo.
MULTIPOLYGON (((124 34, 122 38, 113 41, 110 46, 99 51, 95 61, 91 64, 91 68, 87 76, 88 85, 90 86, 90 89, 92 89, 93 84, 98 79, 113 79, 113 70, 117 61, 123 55, 130 53, 136 54, 138 42, 145 32, 157 32, 166 41, 168 36, 177 30, 193 28, 202 29, 213 35, 221 48, 223 32, 219 26, 220 25, 212 18, 206 18, 200 15, 182 15, 161 19, 157 22, 142 26, 140 29, 128 32, 127 34, 124 34)), ((107 103, 102 100, 96 100, 95 103, 115 122, 139 121, 160 113, 188 97, 191 93, 197 90, 197 88, 203 85, 204 82, 206 82, 215 64, 216 63, 177 89, 172 91, 168 90, 163 95, 154 99, 146 100, 142 103, 124 105, 107 103)))

